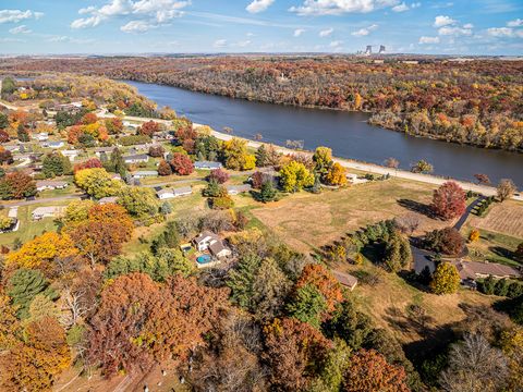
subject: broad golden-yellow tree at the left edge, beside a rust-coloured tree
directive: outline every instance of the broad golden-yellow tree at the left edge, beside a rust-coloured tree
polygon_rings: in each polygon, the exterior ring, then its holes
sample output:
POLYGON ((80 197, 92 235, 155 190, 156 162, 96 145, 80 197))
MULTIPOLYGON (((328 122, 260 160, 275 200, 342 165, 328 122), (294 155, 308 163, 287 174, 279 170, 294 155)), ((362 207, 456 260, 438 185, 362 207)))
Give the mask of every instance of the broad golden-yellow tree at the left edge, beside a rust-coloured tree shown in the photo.
POLYGON ((47 267, 57 257, 70 257, 77 254, 73 241, 66 234, 44 233, 25 243, 19 250, 9 254, 7 266, 22 268, 47 267))

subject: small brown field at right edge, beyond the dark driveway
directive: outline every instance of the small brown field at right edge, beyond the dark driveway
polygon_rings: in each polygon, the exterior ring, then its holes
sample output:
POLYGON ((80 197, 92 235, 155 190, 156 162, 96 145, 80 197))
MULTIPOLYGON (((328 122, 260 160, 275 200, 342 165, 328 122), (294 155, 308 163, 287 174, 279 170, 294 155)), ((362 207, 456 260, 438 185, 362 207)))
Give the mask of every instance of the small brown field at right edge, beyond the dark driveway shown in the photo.
POLYGON ((507 234, 523 241, 523 204, 506 200, 496 204, 484 218, 471 216, 470 224, 476 229, 507 234))

